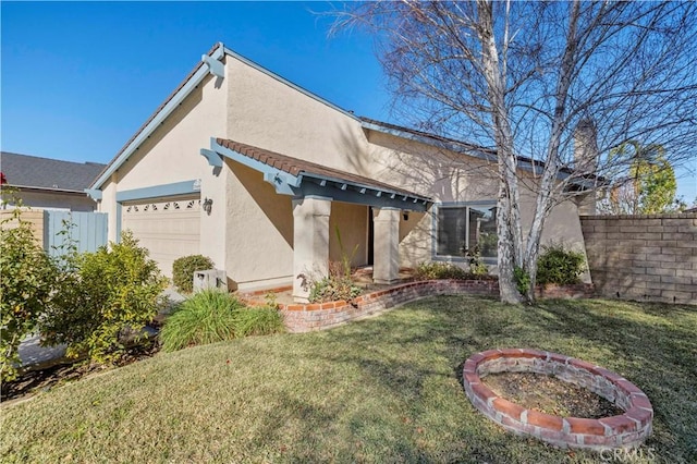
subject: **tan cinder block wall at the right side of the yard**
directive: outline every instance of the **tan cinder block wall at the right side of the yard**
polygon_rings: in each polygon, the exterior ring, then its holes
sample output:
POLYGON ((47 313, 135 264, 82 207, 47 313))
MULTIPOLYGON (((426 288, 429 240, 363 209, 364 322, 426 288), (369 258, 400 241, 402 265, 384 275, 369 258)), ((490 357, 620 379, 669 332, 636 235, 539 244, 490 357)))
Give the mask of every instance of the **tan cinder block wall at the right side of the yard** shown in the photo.
POLYGON ((697 304, 697 213, 584 216, 580 222, 599 293, 697 304))

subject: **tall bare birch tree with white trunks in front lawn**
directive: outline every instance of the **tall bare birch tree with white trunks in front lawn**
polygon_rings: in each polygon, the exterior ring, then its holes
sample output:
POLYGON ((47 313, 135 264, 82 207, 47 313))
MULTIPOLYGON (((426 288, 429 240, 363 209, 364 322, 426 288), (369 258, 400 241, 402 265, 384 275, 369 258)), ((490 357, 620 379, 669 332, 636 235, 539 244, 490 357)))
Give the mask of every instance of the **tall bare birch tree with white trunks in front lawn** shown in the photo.
POLYGON ((496 149, 501 300, 518 303, 534 298, 552 207, 632 163, 628 156, 610 157, 611 147, 661 141, 673 166, 692 156, 696 8, 379 1, 348 4, 335 29, 365 26, 375 33, 395 108, 406 110, 409 123, 496 149), (597 152, 574 163, 577 126, 597 136, 590 144, 597 152), (535 182, 521 175, 519 156, 537 162, 535 182), (565 175, 568 169, 572 175, 565 175), (518 206, 523 187, 536 195, 526 230, 518 206), (525 295, 516 280, 529 282, 525 295))

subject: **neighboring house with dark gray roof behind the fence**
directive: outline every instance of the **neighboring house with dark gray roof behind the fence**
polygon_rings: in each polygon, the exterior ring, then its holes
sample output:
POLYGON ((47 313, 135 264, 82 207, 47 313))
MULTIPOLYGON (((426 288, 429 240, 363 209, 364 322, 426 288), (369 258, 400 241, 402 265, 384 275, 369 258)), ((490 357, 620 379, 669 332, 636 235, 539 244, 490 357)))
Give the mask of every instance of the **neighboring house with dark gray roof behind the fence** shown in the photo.
POLYGON ((8 186, 24 206, 37 209, 94 211, 97 203, 85 193, 106 168, 97 162, 73 162, 2 151, 0 169, 8 186))

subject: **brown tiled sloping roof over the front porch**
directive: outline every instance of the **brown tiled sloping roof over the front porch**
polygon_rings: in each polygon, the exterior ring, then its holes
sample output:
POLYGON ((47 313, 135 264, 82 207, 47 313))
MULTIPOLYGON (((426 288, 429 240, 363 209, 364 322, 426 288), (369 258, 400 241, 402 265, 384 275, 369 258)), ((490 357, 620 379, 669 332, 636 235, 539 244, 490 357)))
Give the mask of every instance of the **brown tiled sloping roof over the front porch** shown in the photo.
POLYGON ((286 155, 277 154, 274 151, 266 150, 250 145, 242 144, 234 141, 228 141, 224 138, 216 138, 216 143, 222 147, 236 151, 247 158, 257 160, 271 168, 279 169, 283 172, 288 172, 294 176, 309 175, 317 179, 325 179, 334 182, 348 182, 354 185, 365 186, 376 191, 382 191, 387 193, 395 193, 398 195, 418 198, 420 200, 430 202, 429 197, 415 194, 404 188, 395 187, 383 182, 376 181, 375 179, 366 178, 363 175, 354 174, 339 169, 328 168, 315 162, 305 161, 298 158, 293 158, 286 155))

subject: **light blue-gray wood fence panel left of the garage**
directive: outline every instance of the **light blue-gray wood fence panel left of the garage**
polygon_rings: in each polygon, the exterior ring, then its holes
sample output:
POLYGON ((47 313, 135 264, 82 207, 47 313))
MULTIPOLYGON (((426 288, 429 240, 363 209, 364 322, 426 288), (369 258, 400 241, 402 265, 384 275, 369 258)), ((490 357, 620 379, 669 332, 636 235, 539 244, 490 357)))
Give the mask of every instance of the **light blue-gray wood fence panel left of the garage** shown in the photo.
POLYGON ((64 253, 72 239, 77 252, 95 252, 107 244, 107 213, 45 210, 44 247, 51 255, 64 253), (73 224, 66 228, 65 224, 73 224), (69 233, 61 233, 69 231, 69 233))

